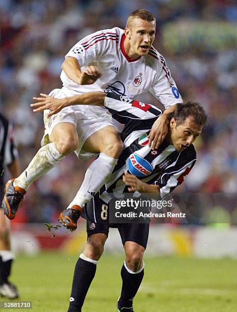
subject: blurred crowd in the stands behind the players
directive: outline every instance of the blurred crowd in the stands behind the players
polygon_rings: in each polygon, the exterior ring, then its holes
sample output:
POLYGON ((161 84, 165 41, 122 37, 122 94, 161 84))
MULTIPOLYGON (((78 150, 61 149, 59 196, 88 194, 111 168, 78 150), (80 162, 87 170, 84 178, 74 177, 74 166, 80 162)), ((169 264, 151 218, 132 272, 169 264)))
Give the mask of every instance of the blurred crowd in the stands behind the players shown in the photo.
MULTIPOLYGON (((216 209, 223 220, 236 224, 234 0, 0 0, 0 111, 13 121, 22 170, 40 148, 44 130, 42 113, 30 108, 32 97, 61 88, 61 64, 78 40, 98 30, 124 28, 129 13, 140 8, 157 18, 154 47, 165 57, 183 100, 201 102, 208 113, 208 125, 195 144, 197 164, 178 191, 230 194, 232 199, 216 209)), ((146 101, 160 105, 150 95, 146 101)), ((87 166, 74 154, 66 157, 32 185, 14 221, 57 221, 87 166)))

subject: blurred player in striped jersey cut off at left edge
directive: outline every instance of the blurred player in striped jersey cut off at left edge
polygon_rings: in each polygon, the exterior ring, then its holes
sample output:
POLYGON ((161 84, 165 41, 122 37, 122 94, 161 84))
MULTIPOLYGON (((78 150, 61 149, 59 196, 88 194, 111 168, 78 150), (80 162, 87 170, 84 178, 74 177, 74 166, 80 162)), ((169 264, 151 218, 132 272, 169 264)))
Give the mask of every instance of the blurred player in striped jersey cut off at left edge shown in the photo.
MULTIPOLYGON (((11 176, 20 174, 18 152, 13 140, 12 124, 0 114, 0 173, 7 167, 11 176)), ((0 197, 4 197, 3 174, 0 176, 0 197)), ((14 254, 11 251, 10 224, 4 211, 0 209, 0 296, 14 299, 19 297, 18 290, 9 281, 14 254)))

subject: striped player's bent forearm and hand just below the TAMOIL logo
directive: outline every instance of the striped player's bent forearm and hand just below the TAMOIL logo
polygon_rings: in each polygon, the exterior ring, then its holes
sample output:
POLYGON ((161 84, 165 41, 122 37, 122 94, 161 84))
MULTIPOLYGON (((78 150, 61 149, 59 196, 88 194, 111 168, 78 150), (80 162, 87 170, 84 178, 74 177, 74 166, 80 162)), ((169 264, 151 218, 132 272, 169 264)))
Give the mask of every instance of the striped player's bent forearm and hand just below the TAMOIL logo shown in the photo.
POLYGON ((128 186, 129 192, 160 193, 160 188, 154 184, 147 184, 139 180, 135 175, 124 172, 123 182, 128 186))

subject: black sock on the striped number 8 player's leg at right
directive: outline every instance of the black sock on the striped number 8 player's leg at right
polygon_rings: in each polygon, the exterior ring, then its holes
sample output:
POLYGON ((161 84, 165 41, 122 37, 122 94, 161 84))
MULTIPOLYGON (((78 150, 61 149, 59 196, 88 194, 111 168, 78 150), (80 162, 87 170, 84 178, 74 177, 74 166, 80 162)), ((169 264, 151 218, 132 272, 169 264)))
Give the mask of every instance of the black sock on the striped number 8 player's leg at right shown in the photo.
POLYGON ((138 289, 141 285, 144 276, 144 269, 137 274, 129 273, 125 266, 122 266, 121 277, 122 277, 122 291, 119 299, 121 306, 130 307, 133 305, 133 298, 136 296, 138 289))

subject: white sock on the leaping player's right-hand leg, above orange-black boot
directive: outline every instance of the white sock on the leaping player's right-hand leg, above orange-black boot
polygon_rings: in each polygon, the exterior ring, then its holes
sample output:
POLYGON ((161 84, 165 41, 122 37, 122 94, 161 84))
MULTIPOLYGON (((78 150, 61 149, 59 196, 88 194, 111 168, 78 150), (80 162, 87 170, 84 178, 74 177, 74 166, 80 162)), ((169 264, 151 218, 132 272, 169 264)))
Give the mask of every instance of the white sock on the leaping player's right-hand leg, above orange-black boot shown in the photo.
POLYGON ((106 183, 106 180, 111 175, 118 160, 104 153, 100 153, 99 157, 93 161, 86 171, 85 178, 80 190, 69 204, 67 209, 73 205, 83 207, 94 194, 106 183))

